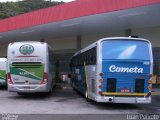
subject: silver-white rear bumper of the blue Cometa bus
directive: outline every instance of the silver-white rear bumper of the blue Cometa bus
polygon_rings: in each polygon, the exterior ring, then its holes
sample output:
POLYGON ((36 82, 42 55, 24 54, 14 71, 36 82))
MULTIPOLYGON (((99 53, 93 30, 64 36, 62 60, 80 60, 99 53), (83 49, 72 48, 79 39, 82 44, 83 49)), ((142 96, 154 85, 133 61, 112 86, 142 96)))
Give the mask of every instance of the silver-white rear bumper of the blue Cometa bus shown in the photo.
POLYGON ((151 97, 113 97, 113 96, 97 96, 96 102, 110 103, 151 103, 151 97))

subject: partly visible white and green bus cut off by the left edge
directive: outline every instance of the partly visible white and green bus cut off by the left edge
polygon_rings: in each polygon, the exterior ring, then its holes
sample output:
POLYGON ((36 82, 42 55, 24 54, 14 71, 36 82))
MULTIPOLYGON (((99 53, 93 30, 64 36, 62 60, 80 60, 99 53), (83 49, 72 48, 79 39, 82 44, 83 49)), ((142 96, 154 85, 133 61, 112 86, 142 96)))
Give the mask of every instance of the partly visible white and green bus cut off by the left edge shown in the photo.
POLYGON ((6 80, 6 67, 7 65, 7 59, 6 58, 0 58, 0 86, 6 86, 7 80, 6 80))

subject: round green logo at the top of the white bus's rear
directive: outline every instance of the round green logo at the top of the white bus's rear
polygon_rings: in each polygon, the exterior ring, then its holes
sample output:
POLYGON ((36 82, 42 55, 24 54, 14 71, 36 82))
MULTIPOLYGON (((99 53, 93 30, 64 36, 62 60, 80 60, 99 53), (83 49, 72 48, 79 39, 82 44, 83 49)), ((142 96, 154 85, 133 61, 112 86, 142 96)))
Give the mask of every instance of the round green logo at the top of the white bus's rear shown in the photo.
POLYGON ((23 55, 30 55, 33 53, 34 51, 34 47, 32 45, 26 44, 26 45, 22 45, 19 48, 20 53, 22 53, 23 55))

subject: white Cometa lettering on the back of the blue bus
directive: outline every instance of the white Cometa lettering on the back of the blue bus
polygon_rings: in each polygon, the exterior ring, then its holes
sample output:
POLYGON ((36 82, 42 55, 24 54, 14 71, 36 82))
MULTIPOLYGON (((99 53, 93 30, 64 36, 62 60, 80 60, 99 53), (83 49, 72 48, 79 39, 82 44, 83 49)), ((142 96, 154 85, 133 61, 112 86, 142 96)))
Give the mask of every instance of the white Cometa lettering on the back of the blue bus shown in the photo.
POLYGON ((126 72, 126 73, 143 73, 143 68, 138 68, 133 67, 133 68, 128 68, 128 67, 117 67, 115 65, 111 65, 109 67, 110 72, 126 72))

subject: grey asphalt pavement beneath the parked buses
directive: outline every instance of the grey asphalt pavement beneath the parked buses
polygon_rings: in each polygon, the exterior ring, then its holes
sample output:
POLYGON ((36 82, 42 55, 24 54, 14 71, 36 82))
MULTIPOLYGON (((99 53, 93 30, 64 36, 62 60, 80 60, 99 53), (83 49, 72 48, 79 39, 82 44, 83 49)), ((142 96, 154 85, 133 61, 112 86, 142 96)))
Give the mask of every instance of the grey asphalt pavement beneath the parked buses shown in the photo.
POLYGON ((69 85, 52 95, 18 95, 0 89, 2 120, 160 120, 160 89, 153 89, 151 104, 111 104, 87 102, 69 85), (154 115, 154 116, 153 116, 154 115), (153 119, 152 119, 153 120, 153 119))

